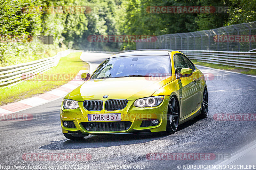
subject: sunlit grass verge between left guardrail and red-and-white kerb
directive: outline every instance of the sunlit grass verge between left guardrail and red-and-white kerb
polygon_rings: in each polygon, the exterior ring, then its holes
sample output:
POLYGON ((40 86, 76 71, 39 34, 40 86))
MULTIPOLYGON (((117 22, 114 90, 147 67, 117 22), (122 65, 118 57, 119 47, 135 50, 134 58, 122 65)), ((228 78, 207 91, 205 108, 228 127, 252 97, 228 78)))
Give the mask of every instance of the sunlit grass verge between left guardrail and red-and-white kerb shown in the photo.
MULTIPOLYGON (((79 70, 89 69, 89 65, 80 59, 80 55, 81 52, 75 52, 60 58, 60 62, 57 66, 50 68, 43 74, 77 74, 79 70)), ((68 82, 69 80, 63 79, 57 81, 30 80, 21 81, 13 86, 0 87, 0 106, 51 91, 68 82)))

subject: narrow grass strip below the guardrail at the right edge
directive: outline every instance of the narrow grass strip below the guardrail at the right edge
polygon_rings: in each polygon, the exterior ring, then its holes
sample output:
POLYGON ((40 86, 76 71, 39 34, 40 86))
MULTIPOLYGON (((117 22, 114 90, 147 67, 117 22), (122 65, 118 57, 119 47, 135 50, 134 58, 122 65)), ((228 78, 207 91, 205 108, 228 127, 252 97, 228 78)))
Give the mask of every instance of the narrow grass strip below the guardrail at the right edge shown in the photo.
POLYGON ((203 63, 203 62, 198 62, 197 60, 191 60, 191 61, 194 64, 211 67, 214 69, 228 70, 228 71, 234 71, 234 72, 243 73, 243 74, 256 75, 256 69, 245 69, 245 68, 233 67, 228 65, 203 63))

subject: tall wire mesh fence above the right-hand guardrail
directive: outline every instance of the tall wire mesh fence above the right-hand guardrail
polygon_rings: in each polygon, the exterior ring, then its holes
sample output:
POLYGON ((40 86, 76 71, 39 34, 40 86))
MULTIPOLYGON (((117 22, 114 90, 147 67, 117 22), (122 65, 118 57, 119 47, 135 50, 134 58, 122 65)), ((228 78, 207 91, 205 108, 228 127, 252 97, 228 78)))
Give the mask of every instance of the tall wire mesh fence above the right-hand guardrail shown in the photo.
POLYGON ((158 35, 136 49, 250 51, 256 48, 256 21, 190 33, 158 35))

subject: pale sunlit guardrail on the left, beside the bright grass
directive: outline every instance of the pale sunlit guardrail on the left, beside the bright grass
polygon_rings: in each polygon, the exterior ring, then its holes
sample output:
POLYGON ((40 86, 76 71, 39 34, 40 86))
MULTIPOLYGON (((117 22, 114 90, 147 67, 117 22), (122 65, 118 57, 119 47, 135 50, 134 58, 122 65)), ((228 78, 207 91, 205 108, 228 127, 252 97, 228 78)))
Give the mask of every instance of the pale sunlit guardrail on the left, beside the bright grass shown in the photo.
POLYGON ((0 67, 0 86, 18 82, 25 77, 30 77, 32 74, 38 74, 51 67, 54 67, 58 65, 61 57, 64 57, 73 51, 74 50, 72 49, 68 49, 58 52, 57 55, 53 57, 43 58, 28 63, 20 63, 11 66, 0 67))

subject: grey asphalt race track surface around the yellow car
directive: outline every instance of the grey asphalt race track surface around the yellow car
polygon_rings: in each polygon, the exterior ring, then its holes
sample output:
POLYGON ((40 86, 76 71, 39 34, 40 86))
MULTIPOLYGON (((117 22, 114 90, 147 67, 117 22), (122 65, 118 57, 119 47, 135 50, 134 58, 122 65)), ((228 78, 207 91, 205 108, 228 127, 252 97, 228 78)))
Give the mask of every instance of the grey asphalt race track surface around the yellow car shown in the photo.
MULTIPOLYGON (((84 53, 83 60, 95 69, 109 54, 84 53)), ((232 157, 232 154, 256 140, 254 121, 219 121, 214 114, 255 114, 256 78, 227 71, 197 66, 207 80, 209 111, 205 119, 193 119, 178 127, 173 135, 157 133, 151 136, 89 135, 82 141, 66 139, 61 133, 60 104, 62 99, 19 113, 32 114, 29 121, 0 122, 0 164, 4 166, 48 166, 47 169, 178 169, 179 165, 212 165, 232 157), (88 153, 87 161, 27 160, 32 153, 88 153), (210 153, 211 160, 197 158, 151 160, 150 153, 210 153), (23 155, 23 157, 22 157, 23 155), (73 168, 71 167, 73 166, 73 168), (120 165, 120 166, 117 166, 120 165), (54 167, 55 166, 55 167, 54 167), (128 167, 129 168, 129 167, 128 167), (127 169, 127 168, 126 168, 127 169)), ((122 87, 120 87, 122 88, 122 87)), ((255 164, 254 157, 254 164, 255 164)), ((14 167, 14 168, 15 168, 14 167)), ((0 167, 4 169, 4 167, 0 167)), ((28 169, 26 167, 20 169, 28 169)))

